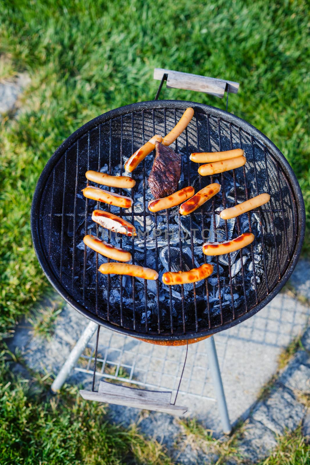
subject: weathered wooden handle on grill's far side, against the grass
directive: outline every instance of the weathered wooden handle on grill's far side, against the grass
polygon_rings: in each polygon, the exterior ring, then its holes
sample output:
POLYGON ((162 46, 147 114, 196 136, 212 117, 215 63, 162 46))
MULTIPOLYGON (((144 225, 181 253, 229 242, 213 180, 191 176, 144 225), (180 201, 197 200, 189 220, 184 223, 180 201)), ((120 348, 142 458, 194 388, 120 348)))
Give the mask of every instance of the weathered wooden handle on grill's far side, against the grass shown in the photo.
POLYGON ((194 90, 215 95, 221 99, 225 91, 237 93, 239 88, 238 82, 227 81, 223 79, 209 78, 199 74, 181 73, 171 69, 155 68, 154 79, 162 80, 164 74, 167 75, 167 87, 174 89, 194 90))

